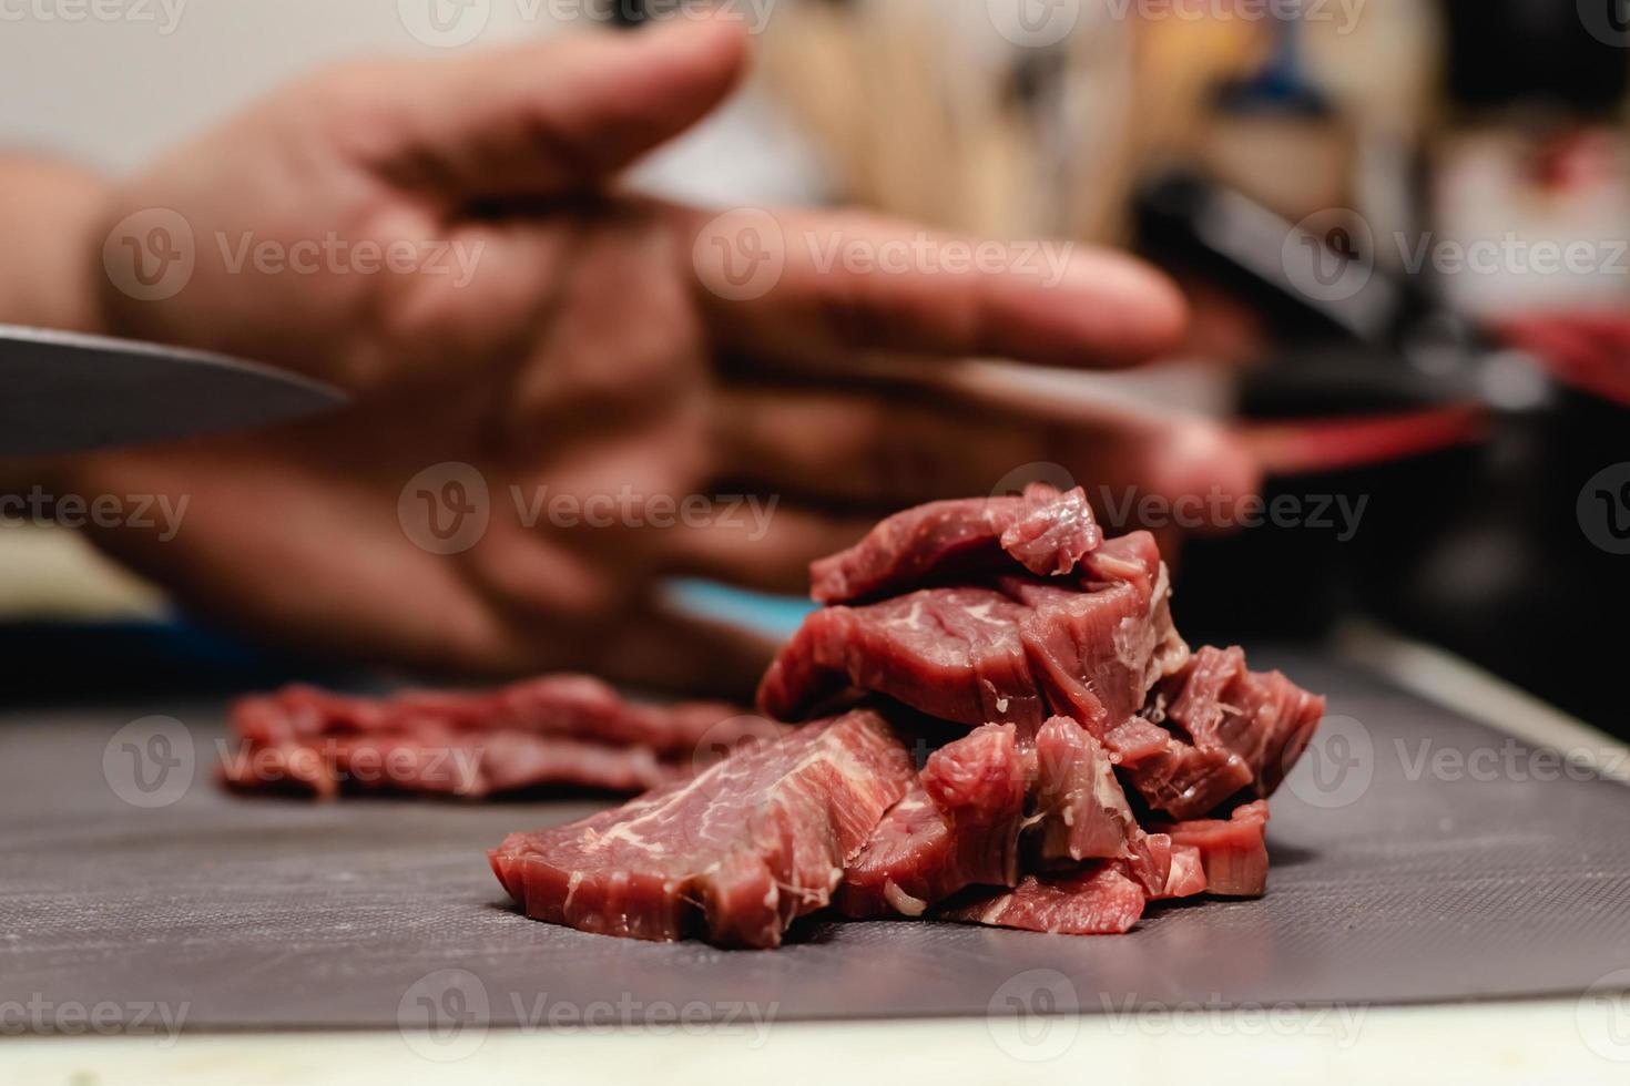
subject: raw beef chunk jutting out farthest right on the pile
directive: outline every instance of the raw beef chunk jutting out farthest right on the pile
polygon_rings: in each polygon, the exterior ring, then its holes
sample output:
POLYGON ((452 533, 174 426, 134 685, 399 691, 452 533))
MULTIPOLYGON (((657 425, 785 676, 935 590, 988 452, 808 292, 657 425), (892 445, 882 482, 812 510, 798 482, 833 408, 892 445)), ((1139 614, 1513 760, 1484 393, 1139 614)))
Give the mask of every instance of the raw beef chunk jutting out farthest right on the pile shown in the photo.
POLYGON ((1278 671, 1247 671, 1239 648, 1201 648, 1105 744, 1149 808, 1195 819, 1240 793, 1271 795, 1324 708, 1278 671))

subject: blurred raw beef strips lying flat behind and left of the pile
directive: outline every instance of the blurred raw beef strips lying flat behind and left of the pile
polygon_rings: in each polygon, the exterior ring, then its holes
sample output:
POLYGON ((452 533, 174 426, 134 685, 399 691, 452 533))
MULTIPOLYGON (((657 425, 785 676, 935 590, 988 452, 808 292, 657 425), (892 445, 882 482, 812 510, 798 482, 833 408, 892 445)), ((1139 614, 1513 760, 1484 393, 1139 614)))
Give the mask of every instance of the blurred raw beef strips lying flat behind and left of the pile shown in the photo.
POLYGON ((318 796, 394 790, 482 798, 559 785, 644 791, 784 731, 729 705, 628 702, 587 676, 388 698, 295 685, 241 698, 231 723, 243 742, 222 765, 227 783, 318 796))

